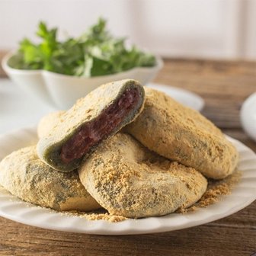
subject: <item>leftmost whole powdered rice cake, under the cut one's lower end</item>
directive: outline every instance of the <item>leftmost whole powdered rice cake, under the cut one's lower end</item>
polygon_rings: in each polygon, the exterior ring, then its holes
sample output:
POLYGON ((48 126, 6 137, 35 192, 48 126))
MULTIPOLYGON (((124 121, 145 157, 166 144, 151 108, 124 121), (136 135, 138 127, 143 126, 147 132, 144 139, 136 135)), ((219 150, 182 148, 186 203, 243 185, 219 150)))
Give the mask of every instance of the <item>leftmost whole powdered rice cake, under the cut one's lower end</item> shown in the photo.
POLYGON ((0 163, 0 184, 24 201, 55 210, 94 210, 101 207, 79 181, 77 171, 53 171, 29 146, 0 163))

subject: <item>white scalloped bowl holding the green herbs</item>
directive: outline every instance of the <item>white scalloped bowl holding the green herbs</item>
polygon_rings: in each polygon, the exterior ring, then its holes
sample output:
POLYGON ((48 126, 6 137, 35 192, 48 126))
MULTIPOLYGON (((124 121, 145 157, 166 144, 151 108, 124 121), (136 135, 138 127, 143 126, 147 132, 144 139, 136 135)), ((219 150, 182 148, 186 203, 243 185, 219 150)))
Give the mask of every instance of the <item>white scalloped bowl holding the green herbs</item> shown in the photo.
POLYGON ((13 69, 8 66, 8 60, 13 54, 14 52, 8 53, 2 59, 2 67, 8 76, 24 91, 63 110, 71 107, 78 98, 85 97, 90 91, 107 82, 129 78, 146 85, 163 66, 162 59, 157 57, 156 66, 153 67, 139 67, 114 75, 85 78, 46 70, 13 69))

